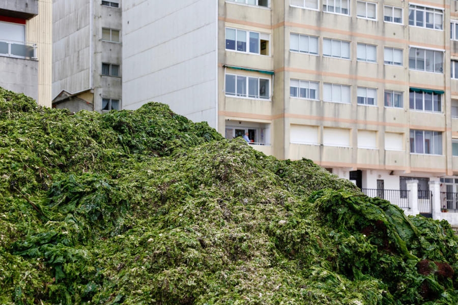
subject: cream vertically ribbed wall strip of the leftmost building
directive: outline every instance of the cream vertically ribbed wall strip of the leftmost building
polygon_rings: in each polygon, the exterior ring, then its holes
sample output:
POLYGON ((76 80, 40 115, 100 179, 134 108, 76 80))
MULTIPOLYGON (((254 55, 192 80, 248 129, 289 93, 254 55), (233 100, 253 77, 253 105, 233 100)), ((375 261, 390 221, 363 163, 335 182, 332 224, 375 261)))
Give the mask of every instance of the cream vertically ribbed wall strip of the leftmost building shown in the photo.
POLYGON ((27 21, 26 41, 37 44, 37 103, 51 107, 52 102, 52 0, 38 1, 38 16, 27 21))

